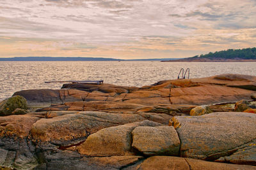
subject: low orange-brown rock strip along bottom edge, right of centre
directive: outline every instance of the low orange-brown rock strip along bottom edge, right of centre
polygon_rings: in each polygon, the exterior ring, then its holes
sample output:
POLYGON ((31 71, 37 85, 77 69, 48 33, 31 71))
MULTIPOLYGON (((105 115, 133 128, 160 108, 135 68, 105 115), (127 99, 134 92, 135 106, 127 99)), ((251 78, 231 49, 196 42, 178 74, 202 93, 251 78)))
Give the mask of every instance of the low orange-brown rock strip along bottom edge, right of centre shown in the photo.
POLYGON ((234 164, 223 164, 216 162, 207 162, 204 160, 187 159, 180 157, 154 156, 144 160, 134 169, 184 169, 184 170, 240 170, 256 169, 255 166, 244 166, 234 164))

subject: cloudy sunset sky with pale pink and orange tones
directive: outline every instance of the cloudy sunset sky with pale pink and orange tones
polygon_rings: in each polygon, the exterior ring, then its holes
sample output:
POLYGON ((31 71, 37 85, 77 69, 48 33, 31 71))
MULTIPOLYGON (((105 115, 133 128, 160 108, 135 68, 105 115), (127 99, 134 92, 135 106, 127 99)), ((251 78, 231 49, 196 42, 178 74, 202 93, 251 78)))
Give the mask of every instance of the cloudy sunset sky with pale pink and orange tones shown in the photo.
POLYGON ((0 57, 193 57, 256 46, 256 0, 0 0, 0 57))

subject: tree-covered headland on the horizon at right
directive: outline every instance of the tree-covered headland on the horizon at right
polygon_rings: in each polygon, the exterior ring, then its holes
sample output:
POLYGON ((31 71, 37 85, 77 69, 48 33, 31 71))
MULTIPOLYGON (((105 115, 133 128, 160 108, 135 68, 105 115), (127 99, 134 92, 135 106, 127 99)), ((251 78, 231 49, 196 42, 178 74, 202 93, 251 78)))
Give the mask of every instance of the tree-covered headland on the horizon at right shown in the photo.
POLYGON ((209 52, 205 55, 178 60, 162 60, 162 62, 256 62, 256 47, 209 52))

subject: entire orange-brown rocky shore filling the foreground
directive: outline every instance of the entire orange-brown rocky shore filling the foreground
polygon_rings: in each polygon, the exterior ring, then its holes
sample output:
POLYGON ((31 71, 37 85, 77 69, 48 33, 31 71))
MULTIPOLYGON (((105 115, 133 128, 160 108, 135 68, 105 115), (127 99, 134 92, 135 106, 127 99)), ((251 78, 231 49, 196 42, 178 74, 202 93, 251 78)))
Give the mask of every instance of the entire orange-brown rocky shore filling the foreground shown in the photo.
POLYGON ((69 83, 0 103, 3 169, 256 169, 256 76, 69 83))

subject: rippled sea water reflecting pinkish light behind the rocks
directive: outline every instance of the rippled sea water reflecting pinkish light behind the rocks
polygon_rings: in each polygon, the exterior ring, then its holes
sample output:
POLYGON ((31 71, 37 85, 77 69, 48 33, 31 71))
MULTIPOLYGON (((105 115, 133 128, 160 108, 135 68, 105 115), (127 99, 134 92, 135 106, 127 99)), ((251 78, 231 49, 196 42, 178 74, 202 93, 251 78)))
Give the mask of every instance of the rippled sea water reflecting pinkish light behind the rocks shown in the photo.
POLYGON ((180 68, 189 67, 190 78, 223 73, 256 76, 256 62, 159 62, 159 61, 74 61, 0 62, 0 101, 26 89, 60 89, 58 80, 104 80, 115 85, 151 85, 177 79, 180 68))

